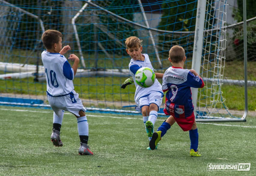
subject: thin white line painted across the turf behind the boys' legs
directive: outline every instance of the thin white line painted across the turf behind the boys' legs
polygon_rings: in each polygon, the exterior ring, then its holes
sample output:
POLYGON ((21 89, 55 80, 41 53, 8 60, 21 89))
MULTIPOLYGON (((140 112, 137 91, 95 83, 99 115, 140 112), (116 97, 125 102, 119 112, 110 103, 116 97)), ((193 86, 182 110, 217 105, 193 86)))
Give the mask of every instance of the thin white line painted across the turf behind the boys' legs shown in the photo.
MULTIPOLYGON (((36 112, 36 113, 53 113, 52 111, 31 111, 31 110, 5 109, 5 108, 0 108, 0 110, 5 110, 5 111, 20 111, 20 112, 36 112)), ((71 113, 66 113, 66 115, 72 115, 72 116, 73 116, 73 114, 71 114, 71 113)), ((142 118, 101 116, 101 115, 92 115, 92 114, 90 114, 89 117, 108 117, 108 118, 115 118, 115 119, 142 120, 142 118)), ((157 119, 157 120, 159 120, 159 119, 157 119)), ((217 125, 217 126, 237 126, 237 127, 245 127, 245 128, 256 128, 256 126, 227 125, 227 124, 203 123, 203 122, 197 122, 197 123, 199 123, 199 124, 206 124, 206 125, 217 125)))

